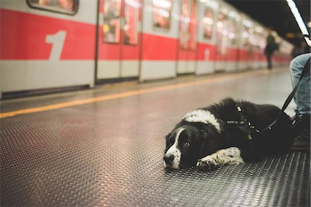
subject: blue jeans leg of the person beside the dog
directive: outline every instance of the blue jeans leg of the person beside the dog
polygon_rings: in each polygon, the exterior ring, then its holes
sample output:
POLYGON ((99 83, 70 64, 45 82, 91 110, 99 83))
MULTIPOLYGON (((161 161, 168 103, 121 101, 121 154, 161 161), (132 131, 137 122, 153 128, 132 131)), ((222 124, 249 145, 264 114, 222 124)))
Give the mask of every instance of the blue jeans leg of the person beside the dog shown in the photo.
MULTIPOLYGON (((299 55, 290 62, 290 76, 293 88, 297 85, 305 63, 311 57, 311 53, 299 55)), ((294 95, 296 103, 295 111, 298 115, 310 115, 310 68, 301 79, 294 95)))

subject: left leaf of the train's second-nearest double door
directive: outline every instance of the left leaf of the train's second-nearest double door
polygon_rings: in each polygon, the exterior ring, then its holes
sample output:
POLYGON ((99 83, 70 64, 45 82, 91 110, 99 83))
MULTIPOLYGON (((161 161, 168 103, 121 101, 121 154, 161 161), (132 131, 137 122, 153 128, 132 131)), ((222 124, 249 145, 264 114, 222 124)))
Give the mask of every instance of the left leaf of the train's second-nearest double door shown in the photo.
POLYGON ((189 68, 189 39, 190 39, 190 11, 191 0, 181 1, 180 32, 178 50, 178 74, 188 73, 189 68))

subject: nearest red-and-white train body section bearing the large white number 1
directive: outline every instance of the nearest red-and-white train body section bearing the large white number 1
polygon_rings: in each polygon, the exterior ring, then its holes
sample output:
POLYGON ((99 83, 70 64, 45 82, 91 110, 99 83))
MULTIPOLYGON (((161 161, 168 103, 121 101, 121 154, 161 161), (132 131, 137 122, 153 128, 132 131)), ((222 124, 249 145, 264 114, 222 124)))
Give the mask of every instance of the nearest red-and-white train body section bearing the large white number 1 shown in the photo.
POLYGON ((96 1, 1 1, 1 94, 94 86, 96 1))

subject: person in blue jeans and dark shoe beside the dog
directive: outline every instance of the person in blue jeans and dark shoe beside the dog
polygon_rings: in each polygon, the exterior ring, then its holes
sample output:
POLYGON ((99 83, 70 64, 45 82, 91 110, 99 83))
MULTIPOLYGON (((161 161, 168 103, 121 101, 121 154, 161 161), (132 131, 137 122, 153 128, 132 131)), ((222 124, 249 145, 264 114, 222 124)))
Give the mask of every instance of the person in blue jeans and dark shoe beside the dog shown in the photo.
POLYGON ((296 116, 293 122, 295 139, 292 148, 296 149, 310 148, 310 57, 311 53, 309 52, 295 57, 290 62, 290 76, 293 87, 297 85, 303 68, 305 66, 308 68, 294 95, 296 116))

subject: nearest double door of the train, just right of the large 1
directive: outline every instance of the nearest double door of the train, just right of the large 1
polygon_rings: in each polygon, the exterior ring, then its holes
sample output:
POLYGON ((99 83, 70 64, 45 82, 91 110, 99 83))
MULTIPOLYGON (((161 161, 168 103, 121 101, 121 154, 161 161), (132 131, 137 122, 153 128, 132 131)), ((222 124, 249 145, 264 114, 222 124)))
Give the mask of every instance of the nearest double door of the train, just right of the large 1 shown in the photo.
POLYGON ((138 79, 141 0, 101 0, 96 82, 138 79))

